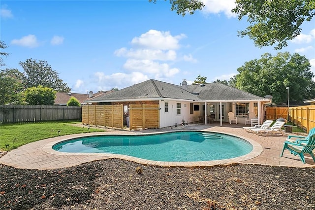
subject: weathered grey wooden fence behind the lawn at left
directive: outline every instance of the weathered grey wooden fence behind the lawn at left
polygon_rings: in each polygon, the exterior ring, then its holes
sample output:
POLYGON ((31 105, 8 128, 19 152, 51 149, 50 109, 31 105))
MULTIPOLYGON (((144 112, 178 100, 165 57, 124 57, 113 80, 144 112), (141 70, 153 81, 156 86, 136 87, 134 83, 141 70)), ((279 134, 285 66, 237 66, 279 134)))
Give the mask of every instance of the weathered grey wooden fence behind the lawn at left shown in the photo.
POLYGON ((0 123, 81 119, 80 106, 0 105, 0 123))

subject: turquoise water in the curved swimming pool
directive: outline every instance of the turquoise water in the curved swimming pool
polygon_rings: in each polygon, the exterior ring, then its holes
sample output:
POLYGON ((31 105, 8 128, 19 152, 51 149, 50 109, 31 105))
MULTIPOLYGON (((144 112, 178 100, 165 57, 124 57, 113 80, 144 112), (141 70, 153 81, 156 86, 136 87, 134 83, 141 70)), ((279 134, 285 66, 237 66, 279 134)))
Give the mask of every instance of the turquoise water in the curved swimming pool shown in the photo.
POLYGON ((154 135, 104 135, 67 140, 53 146, 61 152, 114 153, 155 161, 208 161, 250 153, 252 144, 237 137, 210 132, 154 135))

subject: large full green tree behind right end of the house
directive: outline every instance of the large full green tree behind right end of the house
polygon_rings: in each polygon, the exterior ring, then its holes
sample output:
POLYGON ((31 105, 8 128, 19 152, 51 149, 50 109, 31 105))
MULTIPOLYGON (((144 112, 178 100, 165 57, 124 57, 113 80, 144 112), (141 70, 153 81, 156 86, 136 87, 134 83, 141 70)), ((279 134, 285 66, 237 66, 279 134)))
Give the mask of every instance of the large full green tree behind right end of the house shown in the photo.
POLYGON ((274 57, 266 53, 258 60, 246 62, 237 71, 237 88, 261 97, 272 95, 275 104, 286 103, 286 87, 290 87, 289 99, 292 102, 315 96, 310 62, 298 53, 290 55, 284 52, 274 57))

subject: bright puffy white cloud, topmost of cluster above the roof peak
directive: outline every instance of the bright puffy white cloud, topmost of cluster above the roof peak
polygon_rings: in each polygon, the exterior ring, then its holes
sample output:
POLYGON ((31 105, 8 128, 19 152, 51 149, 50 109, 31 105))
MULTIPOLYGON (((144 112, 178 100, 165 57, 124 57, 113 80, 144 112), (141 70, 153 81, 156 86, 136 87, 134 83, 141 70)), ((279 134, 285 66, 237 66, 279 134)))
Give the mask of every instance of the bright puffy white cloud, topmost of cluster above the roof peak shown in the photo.
POLYGON ((131 44, 151 49, 175 50, 180 48, 179 40, 184 37, 186 37, 184 34, 173 36, 170 32, 150 30, 139 37, 134 37, 131 44))

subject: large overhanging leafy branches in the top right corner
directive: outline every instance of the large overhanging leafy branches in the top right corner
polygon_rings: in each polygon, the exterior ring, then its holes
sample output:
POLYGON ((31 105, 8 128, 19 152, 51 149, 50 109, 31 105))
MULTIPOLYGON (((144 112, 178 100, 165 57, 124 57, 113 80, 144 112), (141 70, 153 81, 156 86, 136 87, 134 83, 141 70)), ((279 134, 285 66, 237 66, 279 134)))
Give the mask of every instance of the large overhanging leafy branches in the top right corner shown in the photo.
POLYGON ((275 49, 287 46, 287 40, 301 32, 301 24, 310 21, 315 15, 314 0, 236 0, 232 12, 241 20, 248 17, 251 24, 242 37, 248 35, 255 46, 263 47, 278 44, 275 49))

